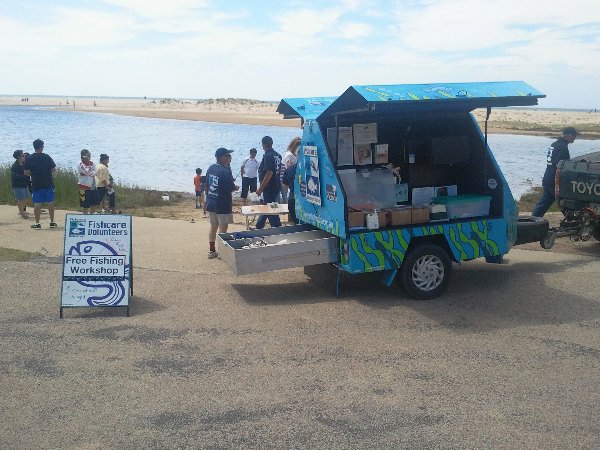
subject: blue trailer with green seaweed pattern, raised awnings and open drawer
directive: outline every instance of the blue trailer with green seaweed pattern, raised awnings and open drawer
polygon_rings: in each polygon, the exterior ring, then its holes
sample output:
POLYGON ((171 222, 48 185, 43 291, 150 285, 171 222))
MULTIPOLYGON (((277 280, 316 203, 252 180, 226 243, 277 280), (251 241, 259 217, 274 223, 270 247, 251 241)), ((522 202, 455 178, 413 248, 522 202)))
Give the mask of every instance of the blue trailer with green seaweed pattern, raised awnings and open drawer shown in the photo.
POLYGON ((327 263, 397 280, 414 298, 439 296, 453 262, 500 263, 515 243, 517 207, 487 144, 487 118, 543 97, 511 81, 283 99, 277 111, 303 130, 293 187, 301 225, 221 235, 222 258, 238 274, 305 266, 310 275, 327 263), (487 109, 484 132, 477 108, 487 109), (257 239, 262 249, 250 245, 257 239))

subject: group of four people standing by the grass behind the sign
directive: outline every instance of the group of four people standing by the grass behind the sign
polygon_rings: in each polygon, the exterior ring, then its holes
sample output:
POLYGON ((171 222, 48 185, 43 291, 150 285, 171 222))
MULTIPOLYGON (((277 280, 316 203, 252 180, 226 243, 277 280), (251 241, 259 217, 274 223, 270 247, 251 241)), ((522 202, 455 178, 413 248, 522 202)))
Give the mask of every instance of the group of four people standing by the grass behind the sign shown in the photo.
MULTIPOLYGON (((33 141, 34 153, 29 154, 23 150, 13 153, 15 162, 11 167, 11 183, 19 215, 28 219, 27 200, 31 194, 35 223, 33 229, 41 229, 40 216, 42 206, 45 204, 50 216, 50 228, 56 228, 54 221, 54 172, 56 164, 51 156, 44 153, 44 141, 33 141)), ((81 151, 81 162, 78 166, 79 204, 84 214, 93 213, 104 198, 108 198, 108 210, 115 212, 115 192, 112 186, 112 177, 108 170, 109 157, 100 155, 100 163, 94 164, 91 153, 87 149, 81 151)))

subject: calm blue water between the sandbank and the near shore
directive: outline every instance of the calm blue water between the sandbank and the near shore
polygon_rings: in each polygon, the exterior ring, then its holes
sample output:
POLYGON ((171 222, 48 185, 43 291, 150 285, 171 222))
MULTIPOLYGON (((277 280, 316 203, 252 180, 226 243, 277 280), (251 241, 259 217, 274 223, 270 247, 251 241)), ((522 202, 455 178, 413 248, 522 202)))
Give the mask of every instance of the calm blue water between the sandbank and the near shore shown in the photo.
MULTIPOLYGON (((206 170, 218 147, 235 150, 235 175, 251 147, 256 147, 261 157, 264 135, 271 136, 275 149, 284 152, 301 130, 0 107, 0 163, 12 163, 16 149, 32 152, 31 143, 39 137, 59 166, 76 167, 79 152, 87 148, 96 162, 100 153, 110 155, 111 173, 120 182, 163 191, 192 191, 196 167, 206 170)), ((553 139, 491 134, 488 142, 515 197, 541 183, 546 149, 553 139)), ((578 156, 600 151, 600 141, 579 139, 569 147, 571 156, 578 156)))

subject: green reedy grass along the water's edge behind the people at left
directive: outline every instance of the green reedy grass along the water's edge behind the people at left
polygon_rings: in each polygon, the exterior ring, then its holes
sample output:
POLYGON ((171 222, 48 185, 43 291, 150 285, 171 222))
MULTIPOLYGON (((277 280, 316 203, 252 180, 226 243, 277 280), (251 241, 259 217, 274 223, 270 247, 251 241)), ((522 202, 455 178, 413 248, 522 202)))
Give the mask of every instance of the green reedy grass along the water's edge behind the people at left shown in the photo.
MULTIPOLYGON (((11 188, 10 164, 0 165, 0 204, 16 205, 11 188)), ((79 211, 79 188, 77 187, 77 173, 73 169, 57 168, 54 173, 54 187, 56 197, 54 204, 58 209, 79 211)), ((165 202, 162 198, 163 191, 146 189, 135 185, 117 184, 114 189, 117 199, 117 210, 137 215, 140 208, 161 208, 178 202, 189 200, 184 193, 169 193, 170 200, 165 202)), ((29 200, 31 205, 31 199, 29 200)), ((146 217, 145 213, 143 214, 146 217)))

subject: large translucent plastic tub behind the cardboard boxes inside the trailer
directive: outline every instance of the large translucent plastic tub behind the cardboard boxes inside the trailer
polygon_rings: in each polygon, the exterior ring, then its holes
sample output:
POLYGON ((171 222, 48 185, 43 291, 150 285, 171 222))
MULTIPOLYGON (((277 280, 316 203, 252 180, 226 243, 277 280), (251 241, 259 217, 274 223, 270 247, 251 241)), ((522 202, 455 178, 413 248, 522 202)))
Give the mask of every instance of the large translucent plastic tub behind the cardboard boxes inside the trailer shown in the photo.
POLYGON ((396 179, 390 169, 339 172, 348 207, 386 209, 396 205, 396 179))

